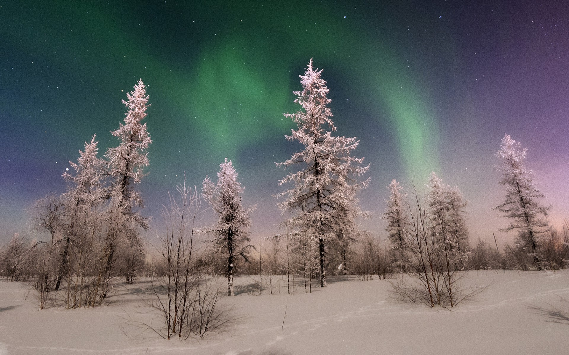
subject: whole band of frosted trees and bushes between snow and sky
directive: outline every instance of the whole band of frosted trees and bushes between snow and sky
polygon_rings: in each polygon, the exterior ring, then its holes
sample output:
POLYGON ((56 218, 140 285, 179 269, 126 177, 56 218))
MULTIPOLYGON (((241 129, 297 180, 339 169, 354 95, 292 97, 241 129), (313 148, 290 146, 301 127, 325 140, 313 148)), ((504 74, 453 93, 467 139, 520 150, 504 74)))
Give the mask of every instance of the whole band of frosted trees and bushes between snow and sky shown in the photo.
MULTIPOLYGON (((178 195, 170 195, 170 206, 163 210, 168 229, 161 236, 159 257, 147 260, 141 236, 149 228, 149 219, 141 214, 143 199, 137 184, 149 165, 151 139, 142 121, 150 105, 139 80, 122 101, 127 108, 124 122, 112 131, 117 147, 100 157, 95 135, 85 143, 77 162, 71 162, 74 172, 63 175, 69 182, 67 191, 35 204, 35 229, 48 233, 50 239, 30 243, 15 236, 1 249, 1 275, 11 281, 31 280, 45 299, 59 292, 64 295, 63 304, 75 308, 104 302, 112 279, 119 276, 133 283, 139 275, 166 275, 163 285, 175 284, 187 296, 195 290, 188 282, 193 282, 196 270, 200 275, 225 277, 227 295, 234 294, 234 275, 244 273, 259 275, 259 293, 263 273, 265 287, 267 277, 270 283, 271 277, 286 275, 289 293, 294 293, 295 277, 303 279, 308 292, 313 279, 325 287, 327 273, 357 274, 360 279, 405 273, 422 286, 394 286, 402 299, 452 307, 469 296, 457 286, 464 270, 542 270, 567 265, 569 228, 561 232, 551 228, 550 207, 541 204, 544 196, 533 171, 523 162, 527 148, 509 135, 502 138, 496 153, 506 195, 495 209, 509 221, 503 230, 515 231, 517 236, 504 253, 480 240, 469 245, 467 201, 458 187, 444 184, 435 173, 424 192, 411 186, 402 193, 395 179, 387 186, 390 198, 382 218, 387 221, 388 237, 383 243, 361 230, 358 218, 369 218, 370 213, 361 209, 357 193, 369 184, 369 178, 364 178, 369 165, 353 156, 359 143, 356 137, 334 135, 329 89, 321 73, 310 60, 300 76, 302 90, 294 91, 300 108, 284 114, 296 124, 286 139, 303 147, 277 164, 291 169, 279 181, 286 190, 275 195, 286 216, 279 224, 284 233, 259 239, 258 248, 249 244, 249 215, 254 206, 242 206, 244 187, 232 161, 225 158, 217 181, 206 177, 201 191, 184 182, 177 186, 178 195), (202 202, 217 217, 208 227, 197 225, 204 212, 202 202), (204 248, 196 245, 197 233, 211 237, 204 248)), ((171 328, 180 334, 176 326, 180 324, 171 328)))

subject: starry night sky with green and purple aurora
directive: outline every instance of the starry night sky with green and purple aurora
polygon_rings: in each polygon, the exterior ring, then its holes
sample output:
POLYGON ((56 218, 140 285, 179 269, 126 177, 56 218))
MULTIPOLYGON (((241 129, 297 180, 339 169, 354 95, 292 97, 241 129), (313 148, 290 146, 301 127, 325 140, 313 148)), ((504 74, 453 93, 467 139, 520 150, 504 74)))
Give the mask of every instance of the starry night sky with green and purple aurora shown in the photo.
POLYGON ((386 237, 392 178, 428 173, 469 200, 471 242, 498 243, 491 208, 504 186, 493 153, 508 133, 528 147, 551 222, 569 217, 569 3, 549 1, 5 1, 0 3, 0 244, 26 233, 27 210, 61 193, 61 174, 93 133, 118 144, 138 78, 151 107, 149 232, 167 190, 201 187, 232 159, 257 203, 253 237, 278 233, 277 168, 300 149, 284 135, 293 90, 314 58, 337 135, 357 136, 372 178, 366 229, 386 237))

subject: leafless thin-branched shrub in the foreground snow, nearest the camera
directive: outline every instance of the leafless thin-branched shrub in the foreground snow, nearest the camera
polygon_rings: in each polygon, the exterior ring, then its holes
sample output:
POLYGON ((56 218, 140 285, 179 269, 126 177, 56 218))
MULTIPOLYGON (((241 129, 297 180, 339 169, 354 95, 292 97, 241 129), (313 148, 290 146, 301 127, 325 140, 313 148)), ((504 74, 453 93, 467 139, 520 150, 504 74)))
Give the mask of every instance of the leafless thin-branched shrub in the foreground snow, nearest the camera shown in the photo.
POLYGON ((159 248, 150 299, 145 302, 160 314, 160 326, 145 326, 164 339, 203 339, 225 330, 232 321, 220 306, 220 286, 215 277, 204 273, 203 258, 195 256, 195 224, 201 215, 196 188, 176 186, 178 197, 170 195, 170 206, 163 207, 166 236, 159 248), (200 265, 201 264, 201 265, 200 265))

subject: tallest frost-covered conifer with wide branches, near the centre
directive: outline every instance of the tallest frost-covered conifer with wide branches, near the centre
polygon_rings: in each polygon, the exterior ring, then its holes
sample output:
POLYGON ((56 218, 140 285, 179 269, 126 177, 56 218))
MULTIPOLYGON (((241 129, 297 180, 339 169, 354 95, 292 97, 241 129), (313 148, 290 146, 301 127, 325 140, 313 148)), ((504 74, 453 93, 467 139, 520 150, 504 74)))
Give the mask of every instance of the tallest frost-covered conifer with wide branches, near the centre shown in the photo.
POLYGON ((332 111, 327 107, 331 102, 327 98, 329 89, 321 73, 322 70, 314 69, 311 59, 306 72, 300 76, 302 90, 294 91, 297 96, 294 102, 302 108, 294 114, 284 114, 298 125, 286 139, 298 141, 304 149, 277 163, 285 169, 300 168, 279 182, 279 186, 294 183, 294 187, 276 197, 284 198, 278 204, 282 214, 292 214, 281 226, 290 227, 296 235, 318 244, 320 287, 325 287, 327 243, 339 241, 339 236, 349 237, 356 217, 368 215, 360 210, 355 196, 369 183, 369 179, 357 181, 357 177, 369 170, 369 165, 361 167, 364 158, 351 155, 359 143, 356 137, 332 135, 336 127, 331 119, 332 111))

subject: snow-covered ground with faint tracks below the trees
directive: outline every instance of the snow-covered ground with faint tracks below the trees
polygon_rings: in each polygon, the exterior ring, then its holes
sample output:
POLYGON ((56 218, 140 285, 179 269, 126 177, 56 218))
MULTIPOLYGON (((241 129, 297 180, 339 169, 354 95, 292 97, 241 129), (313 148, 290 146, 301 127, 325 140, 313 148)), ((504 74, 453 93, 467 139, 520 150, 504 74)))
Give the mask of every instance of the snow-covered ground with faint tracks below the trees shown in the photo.
POLYGON ((240 320, 205 340, 163 340, 149 322, 145 283, 118 286, 108 306, 38 310, 30 287, 0 282, 0 354, 566 354, 569 272, 469 272, 490 285, 456 309, 391 301, 388 281, 331 277, 304 294, 254 295, 249 277, 224 298, 240 320), (286 317, 285 317, 286 313, 286 317), (284 319, 284 326, 283 326, 284 319))

